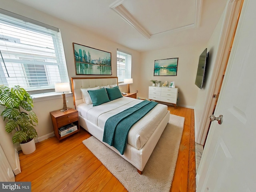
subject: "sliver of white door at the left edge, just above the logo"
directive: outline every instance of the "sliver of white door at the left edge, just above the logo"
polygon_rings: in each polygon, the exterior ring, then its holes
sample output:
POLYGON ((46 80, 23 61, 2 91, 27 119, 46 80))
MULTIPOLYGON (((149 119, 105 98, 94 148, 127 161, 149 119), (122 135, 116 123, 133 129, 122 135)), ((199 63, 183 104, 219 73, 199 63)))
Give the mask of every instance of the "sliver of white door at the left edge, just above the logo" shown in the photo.
POLYGON ((0 145, 0 181, 1 182, 15 181, 14 173, 12 172, 12 167, 10 166, 6 158, 1 145, 0 145))

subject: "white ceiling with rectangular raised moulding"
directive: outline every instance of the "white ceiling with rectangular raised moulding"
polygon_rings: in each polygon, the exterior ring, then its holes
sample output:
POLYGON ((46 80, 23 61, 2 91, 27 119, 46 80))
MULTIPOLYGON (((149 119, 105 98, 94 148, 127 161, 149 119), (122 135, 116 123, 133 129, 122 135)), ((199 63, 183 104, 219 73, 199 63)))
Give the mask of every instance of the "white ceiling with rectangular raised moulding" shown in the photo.
POLYGON ((207 42, 227 2, 227 0, 16 1, 141 52, 207 42), (128 18, 122 18, 120 12, 126 14, 128 18))

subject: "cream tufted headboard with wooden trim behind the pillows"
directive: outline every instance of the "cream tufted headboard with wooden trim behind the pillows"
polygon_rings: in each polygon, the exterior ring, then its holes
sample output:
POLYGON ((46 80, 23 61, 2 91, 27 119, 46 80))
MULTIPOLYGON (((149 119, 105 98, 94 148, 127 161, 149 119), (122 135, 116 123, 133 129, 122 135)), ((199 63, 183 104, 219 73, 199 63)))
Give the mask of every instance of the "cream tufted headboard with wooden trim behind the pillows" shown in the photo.
POLYGON ((81 88, 94 88, 97 86, 118 84, 118 77, 72 77, 71 84, 76 109, 76 106, 83 103, 81 88))

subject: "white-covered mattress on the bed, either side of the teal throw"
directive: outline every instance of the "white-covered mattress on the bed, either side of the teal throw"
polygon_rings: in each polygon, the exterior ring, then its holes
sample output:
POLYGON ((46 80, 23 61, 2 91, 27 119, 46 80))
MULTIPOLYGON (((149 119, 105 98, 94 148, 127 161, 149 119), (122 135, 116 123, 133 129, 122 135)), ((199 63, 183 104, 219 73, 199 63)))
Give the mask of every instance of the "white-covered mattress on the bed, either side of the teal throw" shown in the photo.
MULTIPOLYGON (((77 110, 81 116, 101 128, 103 132, 105 122, 109 117, 118 114, 139 102, 142 102, 142 100, 122 97, 94 107, 92 104, 86 105, 83 103, 77 106, 77 110)), ((162 118, 166 115, 166 112, 166 105, 157 104, 148 114, 132 126, 128 134, 128 144, 137 149, 142 148, 162 118)))

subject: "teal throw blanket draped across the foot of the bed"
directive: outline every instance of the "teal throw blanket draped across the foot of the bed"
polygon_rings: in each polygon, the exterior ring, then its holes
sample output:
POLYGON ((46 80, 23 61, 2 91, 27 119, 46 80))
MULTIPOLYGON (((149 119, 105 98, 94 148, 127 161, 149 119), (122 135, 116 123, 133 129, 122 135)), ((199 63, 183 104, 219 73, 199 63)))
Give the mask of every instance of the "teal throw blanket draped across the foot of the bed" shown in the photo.
POLYGON ((152 110, 158 103, 144 100, 114 116, 108 118, 104 127, 103 142, 114 146, 120 154, 124 154, 128 132, 132 126, 152 110))

